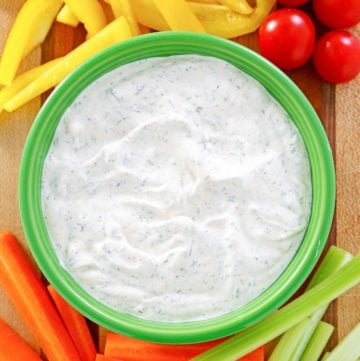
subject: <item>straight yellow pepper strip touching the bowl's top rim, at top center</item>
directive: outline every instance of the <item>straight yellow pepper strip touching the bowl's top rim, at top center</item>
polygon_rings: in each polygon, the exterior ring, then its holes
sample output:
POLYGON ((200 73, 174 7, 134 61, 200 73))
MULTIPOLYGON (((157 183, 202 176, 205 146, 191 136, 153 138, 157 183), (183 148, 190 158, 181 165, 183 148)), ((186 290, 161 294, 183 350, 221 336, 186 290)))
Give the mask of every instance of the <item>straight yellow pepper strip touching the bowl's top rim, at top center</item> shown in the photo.
POLYGON ((205 29, 185 0, 153 0, 171 30, 188 30, 204 33, 205 29))

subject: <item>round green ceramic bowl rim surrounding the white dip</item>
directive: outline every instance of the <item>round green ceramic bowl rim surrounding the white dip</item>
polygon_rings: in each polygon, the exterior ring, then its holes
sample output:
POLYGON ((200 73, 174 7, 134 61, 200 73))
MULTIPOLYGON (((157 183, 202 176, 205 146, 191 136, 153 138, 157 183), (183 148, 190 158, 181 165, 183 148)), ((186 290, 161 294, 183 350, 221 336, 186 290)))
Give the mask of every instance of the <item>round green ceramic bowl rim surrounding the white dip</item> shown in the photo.
POLYGON ((110 330, 160 343, 195 343, 217 339, 248 327, 284 304, 315 266, 328 237, 335 203, 335 175, 330 146, 314 109, 299 88, 258 54, 217 37, 162 32, 114 45, 78 67, 52 93, 27 139, 20 169, 20 213, 30 249, 58 292, 92 321, 110 330), (87 294, 59 264, 44 222, 41 177, 57 124, 79 93, 103 74, 130 62, 159 56, 199 54, 223 59, 258 80, 288 112, 310 158, 312 209, 302 243, 277 281, 249 304, 204 321, 146 321, 114 311, 87 294))

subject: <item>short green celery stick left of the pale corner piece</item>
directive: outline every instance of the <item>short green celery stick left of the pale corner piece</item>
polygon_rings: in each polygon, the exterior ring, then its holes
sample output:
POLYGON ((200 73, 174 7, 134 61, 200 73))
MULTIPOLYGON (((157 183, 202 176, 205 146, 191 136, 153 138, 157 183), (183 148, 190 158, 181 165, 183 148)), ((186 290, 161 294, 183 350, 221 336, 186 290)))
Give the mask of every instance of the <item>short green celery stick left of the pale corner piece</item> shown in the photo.
POLYGON ((318 361, 333 331, 333 325, 321 321, 317 325, 310 342, 306 346, 301 361, 318 361))

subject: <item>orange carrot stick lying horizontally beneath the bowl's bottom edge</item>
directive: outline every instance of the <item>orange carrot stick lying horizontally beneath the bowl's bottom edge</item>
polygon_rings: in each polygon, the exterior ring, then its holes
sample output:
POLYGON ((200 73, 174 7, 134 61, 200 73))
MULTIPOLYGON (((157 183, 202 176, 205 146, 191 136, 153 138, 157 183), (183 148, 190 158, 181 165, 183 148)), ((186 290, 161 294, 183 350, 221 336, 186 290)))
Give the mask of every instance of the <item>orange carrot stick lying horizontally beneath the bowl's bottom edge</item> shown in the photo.
MULTIPOLYGON (((189 361, 189 359, 205 352, 211 347, 224 341, 215 340, 190 345, 162 345, 135 340, 127 336, 109 332, 106 337, 105 352, 107 357, 118 357, 121 361, 189 361)), ((97 361, 112 361, 110 359, 99 359, 97 361)), ((259 348, 249 355, 239 359, 241 361, 263 361, 264 350, 259 348)))

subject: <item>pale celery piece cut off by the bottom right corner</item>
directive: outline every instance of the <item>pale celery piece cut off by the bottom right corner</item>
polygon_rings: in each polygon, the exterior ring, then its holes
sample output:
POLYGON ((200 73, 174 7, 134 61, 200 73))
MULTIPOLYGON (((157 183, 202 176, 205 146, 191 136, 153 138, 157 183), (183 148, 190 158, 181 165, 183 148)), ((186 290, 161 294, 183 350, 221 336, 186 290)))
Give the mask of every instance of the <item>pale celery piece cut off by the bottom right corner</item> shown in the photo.
POLYGON ((360 323, 330 352, 326 361, 356 361, 360 357, 360 323))

